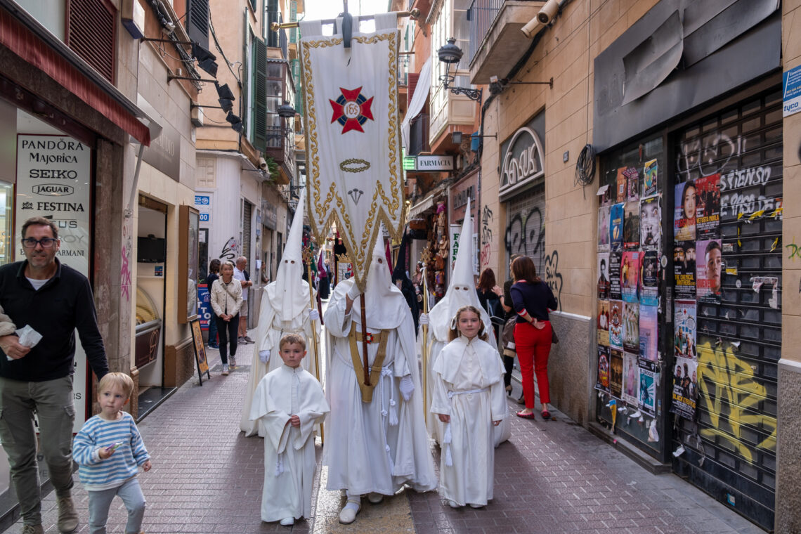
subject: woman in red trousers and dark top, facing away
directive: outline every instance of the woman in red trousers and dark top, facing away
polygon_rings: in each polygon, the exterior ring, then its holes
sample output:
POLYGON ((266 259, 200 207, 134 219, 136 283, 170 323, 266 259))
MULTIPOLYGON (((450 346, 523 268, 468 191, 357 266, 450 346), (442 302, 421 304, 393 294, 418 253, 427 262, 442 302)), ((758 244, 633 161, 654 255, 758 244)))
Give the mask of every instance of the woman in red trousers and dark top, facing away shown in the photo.
POLYGON ((534 374, 540 388, 541 416, 550 418, 548 403, 548 355, 551 346, 551 324, 548 311, 557 309, 557 301, 548 284, 537 276, 537 268, 527 256, 512 262, 512 275, 515 283, 511 288, 517 323, 514 326, 514 345, 523 380, 525 409, 517 412, 518 417, 534 419, 534 374))

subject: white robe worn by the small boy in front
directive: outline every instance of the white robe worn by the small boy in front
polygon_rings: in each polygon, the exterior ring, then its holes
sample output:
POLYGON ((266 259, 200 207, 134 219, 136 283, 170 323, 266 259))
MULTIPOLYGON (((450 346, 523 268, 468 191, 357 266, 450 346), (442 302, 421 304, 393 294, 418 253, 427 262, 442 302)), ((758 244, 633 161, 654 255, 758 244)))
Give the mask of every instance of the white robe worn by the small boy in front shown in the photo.
POLYGON ((256 387, 250 417, 264 433, 261 520, 308 519, 314 486, 314 426, 328 413, 323 388, 301 367, 281 365, 256 387), (289 424, 300 417, 300 427, 289 424))

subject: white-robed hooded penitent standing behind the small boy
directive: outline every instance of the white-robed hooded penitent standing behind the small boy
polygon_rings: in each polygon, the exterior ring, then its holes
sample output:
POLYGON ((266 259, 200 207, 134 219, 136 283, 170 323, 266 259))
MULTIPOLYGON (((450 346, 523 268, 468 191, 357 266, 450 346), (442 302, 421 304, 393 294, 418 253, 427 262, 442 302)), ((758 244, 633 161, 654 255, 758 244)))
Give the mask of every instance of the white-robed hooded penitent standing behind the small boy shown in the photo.
MULTIPOLYGON (((308 316, 309 291, 312 291, 312 298, 315 296, 315 292, 302 278, 304 264, 301 249, 303 247, 305 197, 306 195, 301 192, 295 218, 292 219, 292 227, 287 237, 287 244, 284 247, 284 254, 281 255, 276 279, 272 283, 268 283, 261 296, 259 324, 256 327, 256 350, 253 354, 248 387, 245 389, 242 405, 242 416, 239 421, 239 429, 245 433, 245 436, 254 436, 258 431, 256 421, 250 419, 251 403, 253 395, 256 393, 256 386, 259 385, 264 375, 284 365, 279 355, 279 343, 284 335, 300 334, 304 336, 307 354, 302 360, 301 366, 320 379, 317 376, 317 354, 314 343, 312 343, 312 332, 317 339, 320 339, 320 323, 312 321, 308 316), (263 363, 259 358, 262 351, 270 351, 270 359, 267 363, 263 363)), ((264 437, 261 433, 259 435, 264 437)))

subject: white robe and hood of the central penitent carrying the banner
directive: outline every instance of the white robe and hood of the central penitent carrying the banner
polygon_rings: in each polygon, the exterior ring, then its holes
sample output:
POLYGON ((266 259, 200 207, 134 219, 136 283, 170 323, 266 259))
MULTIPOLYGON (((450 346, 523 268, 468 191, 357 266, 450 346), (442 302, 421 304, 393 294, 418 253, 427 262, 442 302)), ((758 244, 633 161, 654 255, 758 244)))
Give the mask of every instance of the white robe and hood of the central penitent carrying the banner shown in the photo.
MULTIPOLYGON (((374 336, 368 344, 370 366, 376 361, 382 330, 387 343, 371 402, 362 402, 358 382, 364 381, 364 375, 356 375, 348 339, 352 329, 362 330, 358 297, 345 314, 345 295, 353 279, 336 284, 324 315, 329 337, 325 394, 331 413, 325 423, 323 462, 328 465, 328 489, 347 489, 352 495, 392 495, 403 484, 417 491, 437 488, 425 432, 412 315, 390 279, 383 239, 378 243, 364 294, 367 331, 374 336), (411 379, 414 387, 408 401, 400 393, 403 377, 409 377, 406 380, 411 379)), ((362 343, 358 341, 356 347, 361 362, 362 343)))

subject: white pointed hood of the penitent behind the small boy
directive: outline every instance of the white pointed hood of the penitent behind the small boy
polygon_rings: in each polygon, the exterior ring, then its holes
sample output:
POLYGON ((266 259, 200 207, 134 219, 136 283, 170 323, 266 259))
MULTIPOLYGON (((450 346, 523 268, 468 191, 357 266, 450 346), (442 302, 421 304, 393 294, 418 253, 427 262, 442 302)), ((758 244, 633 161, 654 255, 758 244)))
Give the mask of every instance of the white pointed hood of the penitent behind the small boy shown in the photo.
POLYGON ((292 320, 309 307, 308 283, 303 279, 303 212, 306 192, 300 191, 300 200, 289 229, 284 254, 276 272, 276 280, 269 283, 267 292, 270 305, 284 321, 292 320))

